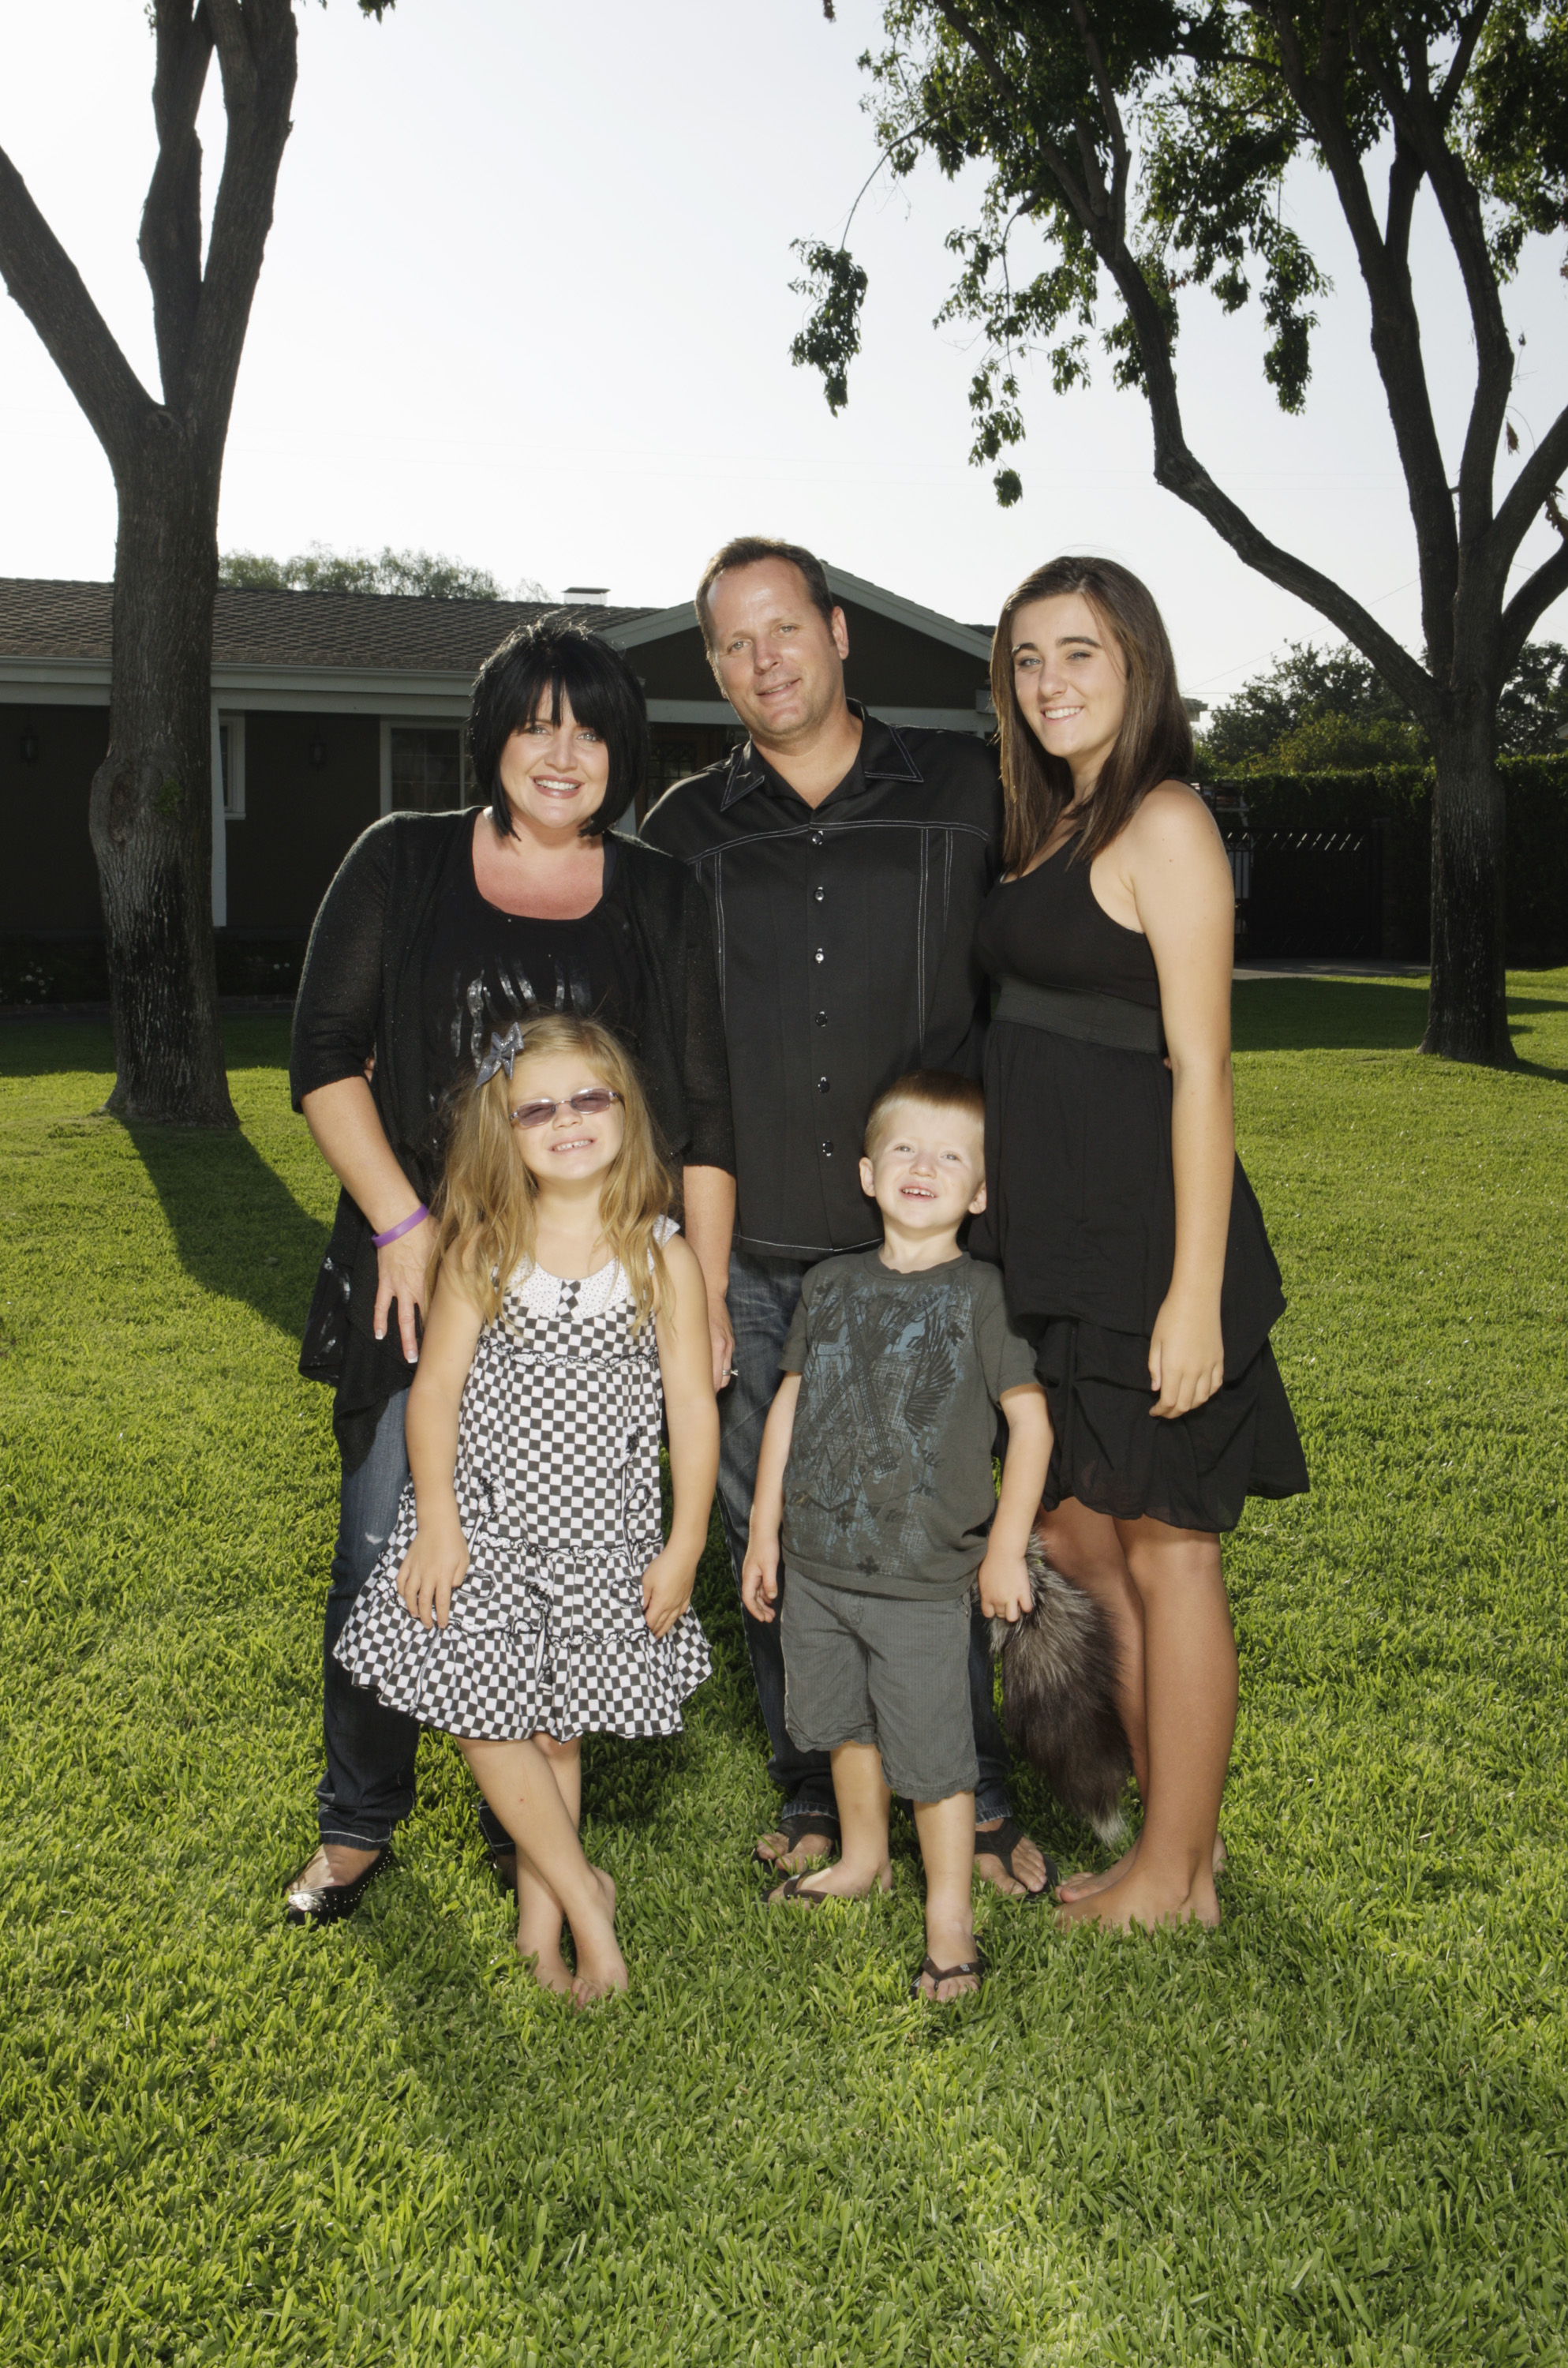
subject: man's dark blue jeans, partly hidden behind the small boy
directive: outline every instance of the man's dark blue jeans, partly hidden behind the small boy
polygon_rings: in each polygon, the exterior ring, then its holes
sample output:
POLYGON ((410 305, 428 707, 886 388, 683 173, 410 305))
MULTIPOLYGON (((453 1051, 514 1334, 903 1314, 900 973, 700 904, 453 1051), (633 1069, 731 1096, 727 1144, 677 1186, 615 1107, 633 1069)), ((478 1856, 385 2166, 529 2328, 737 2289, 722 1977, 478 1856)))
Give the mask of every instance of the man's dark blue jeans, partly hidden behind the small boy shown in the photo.
MULTIPOLYGON (((801 1300, 805 1260, 730 1255, 730 1321, 734 1324, 734 1378, 718 1392, 718 1511, 730 1542, 734 1584, 741 1584, 751 1492, 756 1487, 763 1426, 779 1388, 779 1354, 801 1300)), ((758 1688, 763 1726, 772 1745, 767 1774, 782 1788, 784 1816, 834 1809, 834 1776, 827 1752, 803 1752, 784 1726, 784 1646, 779 1622, 741 1610, 746 1650, 758 1688)), ((1007 1738, 992 1705, 990 1634, 981 1613, 969 1624, 969 1705, 981 1781, 973 1795, 976 1826, 1007 1816, 1007 1738)))

